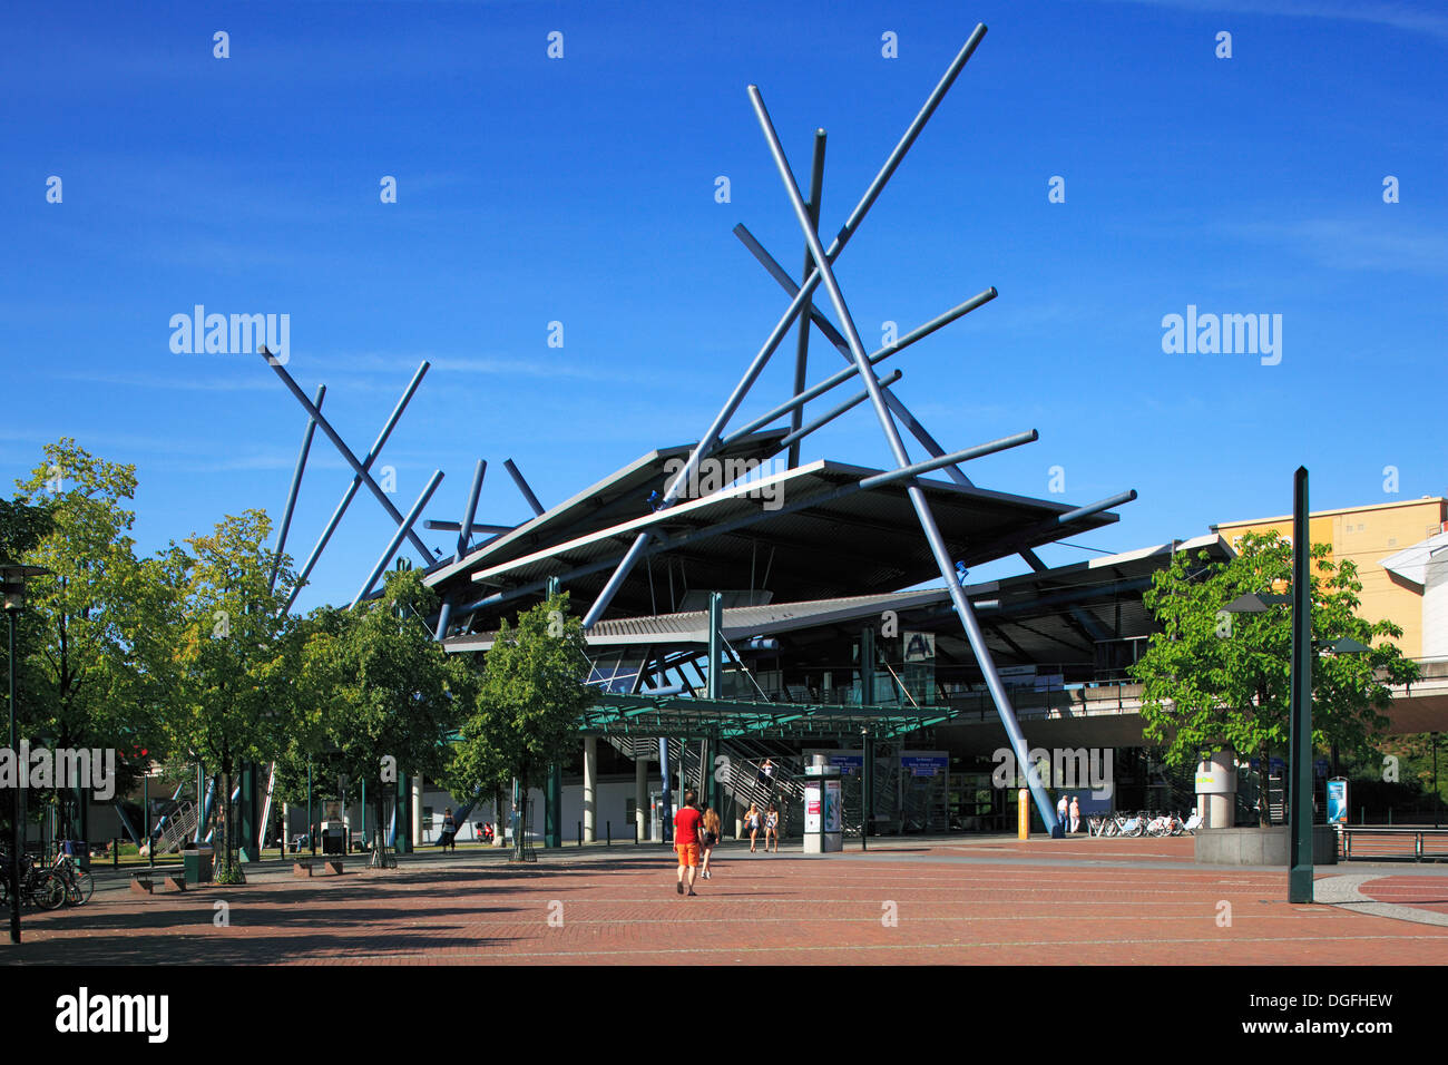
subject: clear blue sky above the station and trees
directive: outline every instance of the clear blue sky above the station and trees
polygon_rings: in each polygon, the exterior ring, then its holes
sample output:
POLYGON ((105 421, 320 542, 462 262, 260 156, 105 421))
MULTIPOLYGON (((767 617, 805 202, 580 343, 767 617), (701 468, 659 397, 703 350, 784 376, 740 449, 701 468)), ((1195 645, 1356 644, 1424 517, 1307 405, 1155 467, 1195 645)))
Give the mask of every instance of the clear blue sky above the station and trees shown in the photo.
MULTIPOLYGON (((976 22, 985 42, 837 272, 870 348, 886 320, 905 332, 999 288, 886 364, 947 448, 1040 429, 973 464, 977 484, 1048 497, 1058 465, 1072 503, 1137 488, 1118 526, 1074 540, 1114 551, 1286 513, 1299 464, 1315 509, 1442 494, 1432 0, 16 9, 0 483, 68 435, 136 464, 148 551, 245 507, 279 514, 304 414, 256 355, 174 354, 169 319, 194 304, 290 314, 288 369, 308 394, 327 384, 358 452, 430 359, 379 464, 404 511, 440 468, 426 513, 459 517, 487 458, 479 520, 511 523, 529 510, 505 458, 552 504, 696 439, 786 304, 731 227, 791 271, 802 258, 746 85, 801 183, 828 130, 833 235, 976 22), (1166 354, 1161 319, 1189 304, 1281 314, 1280 364, 1166 354)), ((817 336, 811 380, 843 365, 817 336)), ((791 371, 792 339, 743 414, 791 371)), ((818 456, 891 465, 867 409, 811 438, 818 456)), ((348 481, 319 435, 294 554, 348 481)), ((301 606, 348 601, 391 527, 363 493, 301 606)))

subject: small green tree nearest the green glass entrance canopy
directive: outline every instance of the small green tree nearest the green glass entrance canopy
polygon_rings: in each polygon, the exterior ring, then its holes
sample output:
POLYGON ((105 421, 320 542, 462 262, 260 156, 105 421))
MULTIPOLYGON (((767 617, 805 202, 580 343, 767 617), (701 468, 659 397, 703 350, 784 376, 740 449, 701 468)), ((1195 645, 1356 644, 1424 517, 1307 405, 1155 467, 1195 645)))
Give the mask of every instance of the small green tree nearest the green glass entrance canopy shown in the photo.
MULTIPOLYGON (((504 619, 487 652, 472 714, 453 749, 455 793, 497 791, 515 777, 521 794, 578 742, 578 719, 592 700, 581 680, 588 656, 584 626, 568 614, 568 593, 504 619)), ((524 833, 513 840, 521 855, 524 833)))

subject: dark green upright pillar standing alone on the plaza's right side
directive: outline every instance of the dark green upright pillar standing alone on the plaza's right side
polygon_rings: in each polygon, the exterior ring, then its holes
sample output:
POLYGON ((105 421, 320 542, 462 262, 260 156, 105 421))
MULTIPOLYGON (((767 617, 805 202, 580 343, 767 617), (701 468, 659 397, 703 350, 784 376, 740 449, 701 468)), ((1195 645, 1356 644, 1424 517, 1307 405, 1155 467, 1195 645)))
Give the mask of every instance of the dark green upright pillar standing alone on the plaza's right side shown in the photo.
POLYGON ((1312 901, 1312 578, 1308 469, 1292 485, 1292 730, 1287 798, 1287 901, 1312 901))

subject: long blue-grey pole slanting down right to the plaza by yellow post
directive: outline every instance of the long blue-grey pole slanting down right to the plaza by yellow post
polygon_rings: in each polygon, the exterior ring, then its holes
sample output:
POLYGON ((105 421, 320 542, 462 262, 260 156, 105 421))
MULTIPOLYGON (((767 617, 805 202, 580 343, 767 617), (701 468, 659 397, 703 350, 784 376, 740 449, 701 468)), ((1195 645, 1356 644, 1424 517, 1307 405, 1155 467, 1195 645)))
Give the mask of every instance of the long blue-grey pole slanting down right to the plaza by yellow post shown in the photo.
MULTIPOLYGON (((860 335, 854 327, 854 319, 850 317, 850 309, 844 303, 844 296, 840 293, 840 285, 834 278, 834 270, 831 268, 824 249, 820 246, 820 235, 809 226, 809 216, 804 210, 799 187, 795 184, 794 174, 789 170, 789 162, 785 159, 783 148, 779 143, 779 135, 775 132, 775 125, 769 117, 769 112, 765 107, 765 99, 760 96, 757 85, 749 87, 749 97, 750 103, 754 106, 754 114, 759 117, 760 129, 765 132, 765 139, 769 142, 769 151, 775 156, 775 165, 779 168, 779 175, 785 184, 785 191, 789 194, 791 206, 795 209, 795 217, 805 233, 805 239, 809 242, 809 251, 815 256, 818 272, 824 278, 824 287, 830 294, 830 301, 834 304, 835 314, 846 329, 846 339, 850 342, 850 352, 854 356, 856 367, 860 369, 860 377, 864 378, 864 387, 870 391, 870 401, 875 404, 875 413, 879 417, 880 427, 885 430, 885 438, 891 445, 895 461, 901 467, 908 467, 911 462, 909 455, 905 451, 905 443, 901 440, 899 429, 895 426, 895 422, 891 419, 891 413, 885 406, 885 397, 880 394, 880 383, 864 358, 864 345, 860 343, 860 335)), ((990 690, 992 697, 995 697, 996 711, 1001 714, 1001 723, 1005 726, 1006 736, 1011 739, 1016 764, 1030 765, 1025 736, 1021 733, 1021 726, 1015 720, 1015 711, 1011 707, 1011 700, 1005 694, 1005 685, 1001 684, 999 674, 996 674, 995 661, 990 656, 990 649, 986 646, 985 635, 980 632, 980 625, 976 620, 975 611, 970 609, 970 601, 966 598, 960 587, 960 581, 956 578, 954 564, 951 562, 950 552, 946 549, 944 538, 941 538, 940 529, 935 525, 935 516, 930 510, 930 503, 925 500, 925 493, 918 484, 911 484, 906 488, 906 493, 911 504, 915 507, 915 516, 919 520, 921 530, 930 542, 931 554, 935 556, 935 565, 940 568, 940 575, 944 578, 950 597, 954 601, 956 613, 960 614, 960 622, 966 629, 967 639, 970 640, 970 649, 976 655, 982 674, 985 674, 986 687, 990 690)), ((1031 787, 1035 804, 1041 811, 1041 820, 1045 823, 1047 832, 1050 832, 1051 836, 1060 835, 1060 829, 1056 822, 1056 810, 1051 807, 1051 801, 1047 797, 1045 788, 1041 785, 1034 767, 1028 769, 1027 781, 1031 787)))

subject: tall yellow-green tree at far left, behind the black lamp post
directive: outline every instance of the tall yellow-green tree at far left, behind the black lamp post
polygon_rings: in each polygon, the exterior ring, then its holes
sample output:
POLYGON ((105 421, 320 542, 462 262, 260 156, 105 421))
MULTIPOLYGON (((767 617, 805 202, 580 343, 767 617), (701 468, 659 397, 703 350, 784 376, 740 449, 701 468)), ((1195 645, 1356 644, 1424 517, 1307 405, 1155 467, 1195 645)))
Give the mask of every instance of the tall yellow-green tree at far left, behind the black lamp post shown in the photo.
MULTIPOLYGON (((29 540, 23 561, 52 571, 29 584, 28 730, 54 748, 116 749, 125 793, 140 756, 162 742, 171 648, 152 617, 165 611, 169 591, 161 562, 135 552, 135 511, 126 506, 136 494, 135 467, 94 458, 70 438, 43 451, 41 465, 17 483, 25 516, 7 504, 4 520, 29 540)), ((70 810, 62 803, 65 835, 74 829, 70 810)))

